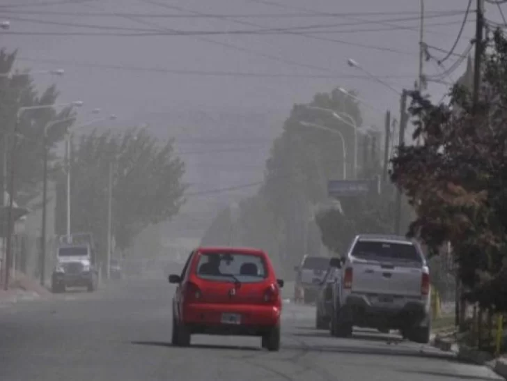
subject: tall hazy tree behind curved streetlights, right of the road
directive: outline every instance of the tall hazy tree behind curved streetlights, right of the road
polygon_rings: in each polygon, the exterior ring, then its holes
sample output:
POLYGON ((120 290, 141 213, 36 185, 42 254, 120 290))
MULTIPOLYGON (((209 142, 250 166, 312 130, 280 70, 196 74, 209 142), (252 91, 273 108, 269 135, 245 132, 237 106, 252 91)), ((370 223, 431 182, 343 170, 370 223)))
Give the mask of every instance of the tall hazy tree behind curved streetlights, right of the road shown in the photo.
MULTIPOLYGON (((315 95, 308 105, 295 104, 281 136, 273 143, 263 185, 256 196, 241 203, 242 242, 265 247, 272 254, 277 252, 286 268, 292 268, 306 252, 318 254, 320 245, 311 246, 310 242, 315 240, 308 237, 314 225, 311 222, 313 208, 327 200, 327 180, 343 176, 343 152, 338 134, 306 127, 300 122, 323 125, 342 134, 348 151, 348 173, 352 173, 355 155, 353 127, 306 106, 345 112, 357 125, 362 123, 357 102, 338 88, 329 94, 315 95)), ((222 226, 217 221, 224 218, 224 215, 217 216, 213 229, 222 226)), ((210 232, 211 228, 206 236, 210 232)))

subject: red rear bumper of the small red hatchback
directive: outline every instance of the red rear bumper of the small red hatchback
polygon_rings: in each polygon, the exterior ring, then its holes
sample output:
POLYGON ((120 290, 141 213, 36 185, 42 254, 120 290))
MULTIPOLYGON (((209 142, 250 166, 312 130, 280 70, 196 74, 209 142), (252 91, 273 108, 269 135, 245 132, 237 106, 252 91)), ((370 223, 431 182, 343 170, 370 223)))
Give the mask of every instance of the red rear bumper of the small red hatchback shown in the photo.
POLYGON ((240 315, 241 326, 279 325, 281 308, 255 304, 187 304, 183 309, 182 321, 185 324, 221 325, 222 313, 240 315))

